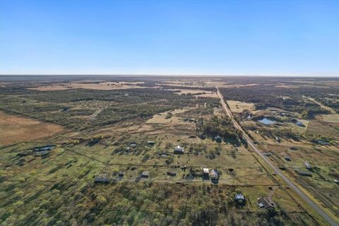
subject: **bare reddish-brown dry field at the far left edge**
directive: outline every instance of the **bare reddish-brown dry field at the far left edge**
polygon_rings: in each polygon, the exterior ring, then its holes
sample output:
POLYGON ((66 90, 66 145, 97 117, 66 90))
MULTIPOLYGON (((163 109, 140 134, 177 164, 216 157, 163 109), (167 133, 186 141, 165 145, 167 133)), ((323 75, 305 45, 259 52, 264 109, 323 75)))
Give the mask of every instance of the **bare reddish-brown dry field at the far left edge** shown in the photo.
POLYGON ((63 131, 63 127, 0 112, 0 145, 33 141, 63 131))

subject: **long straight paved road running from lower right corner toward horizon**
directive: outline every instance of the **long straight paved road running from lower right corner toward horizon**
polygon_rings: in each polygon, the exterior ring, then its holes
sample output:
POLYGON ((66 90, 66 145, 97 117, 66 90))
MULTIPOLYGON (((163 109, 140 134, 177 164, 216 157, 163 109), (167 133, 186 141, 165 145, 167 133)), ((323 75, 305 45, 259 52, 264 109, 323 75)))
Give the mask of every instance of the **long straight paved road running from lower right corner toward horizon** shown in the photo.
POLYGON ((225 104, 224 101, 224 97, 222 97, 219 89, 218 90, 218 96, 221 100, 221 105, 222 108, 225 109, 225 112, 227 113, 228 117, 230 117, 232 119, 232 123, 234 124, 234 126, 241 130, 244 134, 244 138, 246 139, 247 143, 249 144, 249 146, 251 146, 251 148, 266 162, 266 164, 273 169, 273 171, 279 175, 284 181, 285 183, 290 186, 291 189, 293 189, 300 197, 302 197, 304 199, 304 201, 306 201, 307 203, 309 203, 309 206, 311 206, 312 208, 314 208, 314 210, 316 210, 317 213, 319 213, 319 215, 321 215, 330 225, 333 226, 338 226, 339 223, 331 216, 328 215, 328 213, 326 213, 317 203, 315 203, 314 201, 311 200, 311 198, 309 198, 309 196, 307 196, 307 194, 304 193, 304 191, 302 191, 301 189, 299 189, 298 186, 296 186, 294 184, 294 182, 292 182, 289 178, 287 178, 283 172, 280 171, 280 169, 278 169, 278 167, 276 167, 275 165, 273 165, 273 163, 270 161, 270 159, 268 159, 268 157, 266 157, 265 155, 263 155, 263 153, 261 153, 260 150, 258 150, 258 148, 256 147, 256 145, 254 144, 254 142, 251 140, 251 138, 249 136, 246 135, 246 133, 244 133, 244 130, 242 129, 241 126, 239 126, 238 122, 235 121, 231 110, 227 107, 227 105, 225 104))

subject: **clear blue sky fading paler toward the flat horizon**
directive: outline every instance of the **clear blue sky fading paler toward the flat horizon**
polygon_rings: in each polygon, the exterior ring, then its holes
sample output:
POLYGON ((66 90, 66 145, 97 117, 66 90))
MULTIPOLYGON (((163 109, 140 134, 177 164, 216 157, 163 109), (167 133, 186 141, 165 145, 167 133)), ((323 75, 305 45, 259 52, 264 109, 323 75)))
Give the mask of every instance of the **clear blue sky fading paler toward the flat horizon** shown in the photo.
POLYGON ((339 1, 1 1, 1 74, 339 76, 339 1))

